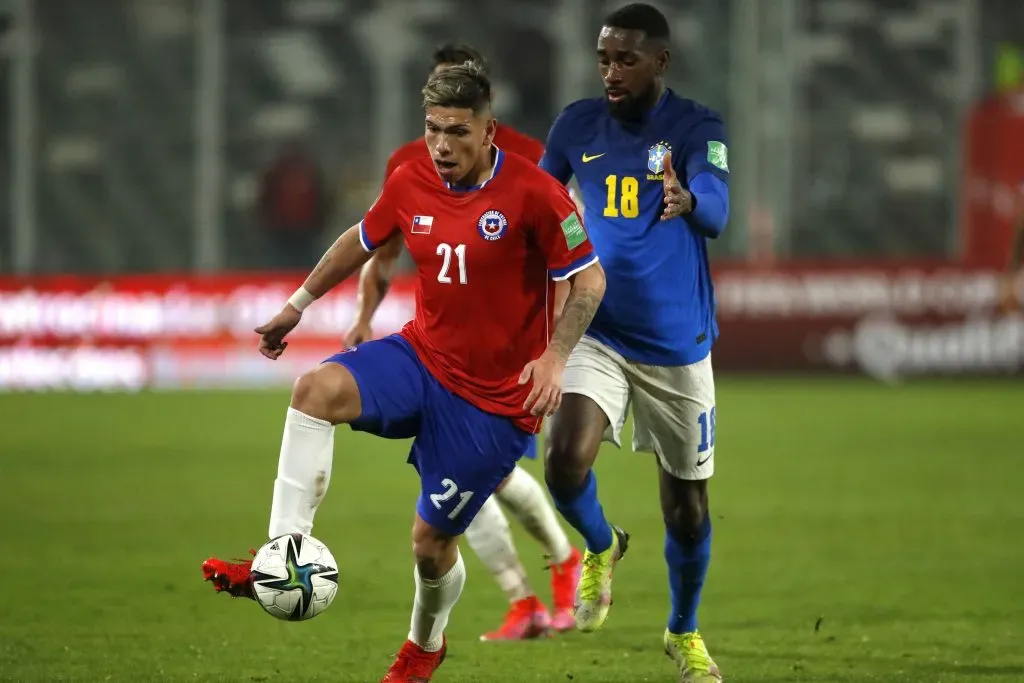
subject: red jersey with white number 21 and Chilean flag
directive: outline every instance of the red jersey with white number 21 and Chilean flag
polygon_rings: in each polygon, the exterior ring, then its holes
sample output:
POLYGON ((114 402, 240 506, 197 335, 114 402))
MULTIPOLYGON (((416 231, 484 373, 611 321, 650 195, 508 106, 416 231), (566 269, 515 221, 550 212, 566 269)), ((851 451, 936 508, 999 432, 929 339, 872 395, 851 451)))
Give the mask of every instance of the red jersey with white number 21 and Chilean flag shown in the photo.
POLYGON ((490 178, 450 188, 428 156, 401 165, 359 223, 367 251, 401 232, 416 263, 416 317, 402 328, 449 391, 525 431, 523 367, 547 348, 554 287, 597 255, 557 180, 498 150, 490 178))

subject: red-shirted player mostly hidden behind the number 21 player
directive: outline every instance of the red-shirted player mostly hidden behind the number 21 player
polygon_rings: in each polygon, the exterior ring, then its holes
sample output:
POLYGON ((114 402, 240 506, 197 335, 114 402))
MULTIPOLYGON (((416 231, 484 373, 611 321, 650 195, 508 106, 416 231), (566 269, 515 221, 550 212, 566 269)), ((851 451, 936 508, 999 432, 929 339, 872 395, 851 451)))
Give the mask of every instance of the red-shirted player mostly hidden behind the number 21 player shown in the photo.
MULTIPOLYGON (((486 74, 487 65, 483 57, 468 45, 444 45, 438 48, 433 55, 431 73, 467 61, 475 63, 486 74)), ((506 153, 518 154, 534 164, 544 155, 544 145, 539 141, 501 123, 496 127, 495 146, 506 153)), ((402 164, 429 160, 430 156, 431 151, 422 137, 401 145, 387 161, 385 182, 402 164)), ((345 335, 346 347, 373 339, 371 322, 387 294, 403 244, 402 236, 396 234, 380 245, 374 257, 364 266, 359 278, 355 322, 345 335)), ((563 290, 567 289, 566 286, 567 283, 559 283, 556 287, 556 311, 564 301, 563 290)), ((536 436, 524 455, 526 458, 537 458, 536 436)), ((502 625, 484 633, 480 640, 526 640, 542 637, 551 631, 564 632, 574 628, 572 604, 580 580, 581 553, 572 547, 558 523, 554 506, 544 487, 529 472, 518 465, 512 470, 473 518, 466 529, 466 541, 490 571, 510 603, 502 625), (502 506, 544 548, 551 570, 551 612, 526 580, 526 569, 519 560, 502 506)))

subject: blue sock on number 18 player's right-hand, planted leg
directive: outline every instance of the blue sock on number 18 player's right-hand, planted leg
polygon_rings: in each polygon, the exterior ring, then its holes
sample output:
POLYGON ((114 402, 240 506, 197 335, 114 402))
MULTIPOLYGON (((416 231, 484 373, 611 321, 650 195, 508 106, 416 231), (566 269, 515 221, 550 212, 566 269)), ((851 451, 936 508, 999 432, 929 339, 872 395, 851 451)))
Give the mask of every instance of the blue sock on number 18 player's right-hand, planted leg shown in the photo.
POLYGON ((697 605, 711 563, 710 514, 705 517, 696 539, 681 542, 672 531, 666 530, 665 561, 669 564, 669 592, 672 594, 669 631, 692 633, 697 630, 697 605))

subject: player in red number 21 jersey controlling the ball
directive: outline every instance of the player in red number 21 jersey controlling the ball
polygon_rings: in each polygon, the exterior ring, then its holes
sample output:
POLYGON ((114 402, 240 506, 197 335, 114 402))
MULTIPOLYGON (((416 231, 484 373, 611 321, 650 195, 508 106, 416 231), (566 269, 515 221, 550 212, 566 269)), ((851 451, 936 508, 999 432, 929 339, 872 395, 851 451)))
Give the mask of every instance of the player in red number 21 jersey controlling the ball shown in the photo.
MULTIPOLYGON (((568 354, 604 295, 604 271, 568 193, 494 142, 490 83, 472 65, 423 89, 431 161, 401 166, 366 218, 256 329, 274 359, 302 311, 402 233, 417 269, 416 317, 397 335, 328 358, 296 381, 285 420, 270 538, 309 533, 331 476, 335 425, 415 437, 416 598, 409 639, 383 681, 429 681, 466 580, 458 539, 561 401, 568 354), (551 280, 570 290, 557 325, 551 280)), ((217 590, 252 597, 250 563, 211 558, 217 590)))

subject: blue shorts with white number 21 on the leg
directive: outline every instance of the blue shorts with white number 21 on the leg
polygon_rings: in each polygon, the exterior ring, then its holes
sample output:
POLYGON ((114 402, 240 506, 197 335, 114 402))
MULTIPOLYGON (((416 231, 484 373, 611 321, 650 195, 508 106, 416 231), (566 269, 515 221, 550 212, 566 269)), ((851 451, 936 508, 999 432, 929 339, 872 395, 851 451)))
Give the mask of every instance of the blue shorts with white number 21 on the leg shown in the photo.
POLYGON ((347 368, 359 387, 362 414, 352 429, 384 438, 415 437, 409 462, 420 473, 417 511, 445 533, 466 530, 534 437, 441 386, 398 335, 359 344, 325 362, 347 368))

